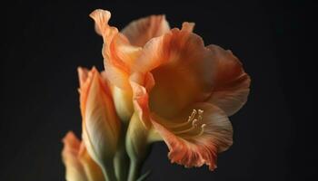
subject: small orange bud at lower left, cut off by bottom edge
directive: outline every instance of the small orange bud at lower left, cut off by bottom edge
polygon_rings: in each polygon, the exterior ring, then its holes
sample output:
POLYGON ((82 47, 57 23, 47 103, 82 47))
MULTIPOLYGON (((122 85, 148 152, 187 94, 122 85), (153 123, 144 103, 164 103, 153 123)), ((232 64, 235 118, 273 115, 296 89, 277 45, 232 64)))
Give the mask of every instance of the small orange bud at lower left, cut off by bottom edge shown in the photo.
POLYGON ((87 154, 83 142, 70 131, 63 138, 63 161, 67 181, 104 181, 102 170, 87 154))

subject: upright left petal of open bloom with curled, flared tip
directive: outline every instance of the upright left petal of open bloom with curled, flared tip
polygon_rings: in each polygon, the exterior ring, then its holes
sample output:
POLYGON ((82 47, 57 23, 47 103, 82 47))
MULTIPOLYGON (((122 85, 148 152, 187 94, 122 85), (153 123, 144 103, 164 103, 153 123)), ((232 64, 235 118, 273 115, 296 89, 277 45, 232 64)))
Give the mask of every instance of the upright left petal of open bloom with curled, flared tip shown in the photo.
POLYGON ((127 77, 142 49, 131 45, 124 34, 119 33, 114 26, 108 25, 110 12, 97 9, 90 16, 94 19, 96 32, 104 39, 102 53, 109 81, 121 89, 129 89, 127 77))

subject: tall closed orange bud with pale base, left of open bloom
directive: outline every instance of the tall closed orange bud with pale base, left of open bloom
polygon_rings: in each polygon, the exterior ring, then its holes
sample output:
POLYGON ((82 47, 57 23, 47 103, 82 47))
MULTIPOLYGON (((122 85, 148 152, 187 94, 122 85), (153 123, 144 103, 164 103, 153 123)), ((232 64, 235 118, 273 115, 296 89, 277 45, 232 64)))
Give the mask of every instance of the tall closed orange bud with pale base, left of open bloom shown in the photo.
POLYGON ((108 85, 98 71, 93 68, 86 77, 80 88, 83 140, 90 156, 103 167, 104 162, 114 157, 120 121, 115 113, 108 85))

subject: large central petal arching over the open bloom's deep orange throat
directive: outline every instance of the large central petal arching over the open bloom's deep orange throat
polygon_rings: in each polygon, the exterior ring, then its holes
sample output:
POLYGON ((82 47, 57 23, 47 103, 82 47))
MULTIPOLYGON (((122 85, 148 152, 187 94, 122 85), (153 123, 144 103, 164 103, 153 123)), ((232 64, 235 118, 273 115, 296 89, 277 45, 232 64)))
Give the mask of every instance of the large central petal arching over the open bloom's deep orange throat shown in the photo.
POLYGON ((134 70, 154 76, 149 92, 151 110, 171 117, 189 103, 205 100, 213 86, 214 59, 191 24, 173 29, 144 46, 134 70))

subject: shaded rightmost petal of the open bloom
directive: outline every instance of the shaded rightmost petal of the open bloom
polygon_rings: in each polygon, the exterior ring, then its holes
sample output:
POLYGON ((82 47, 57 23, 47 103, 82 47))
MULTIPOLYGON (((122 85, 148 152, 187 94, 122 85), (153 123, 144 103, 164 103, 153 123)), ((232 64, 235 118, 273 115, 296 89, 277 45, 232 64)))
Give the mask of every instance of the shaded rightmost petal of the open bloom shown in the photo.
POLYGON ((214 89, 208 102, 218 106, 228 116, 243 107, 250 91, 250 77, 243 71, 242 63, 230 51, 216 45, 207 46, 216 60, 214 89))

